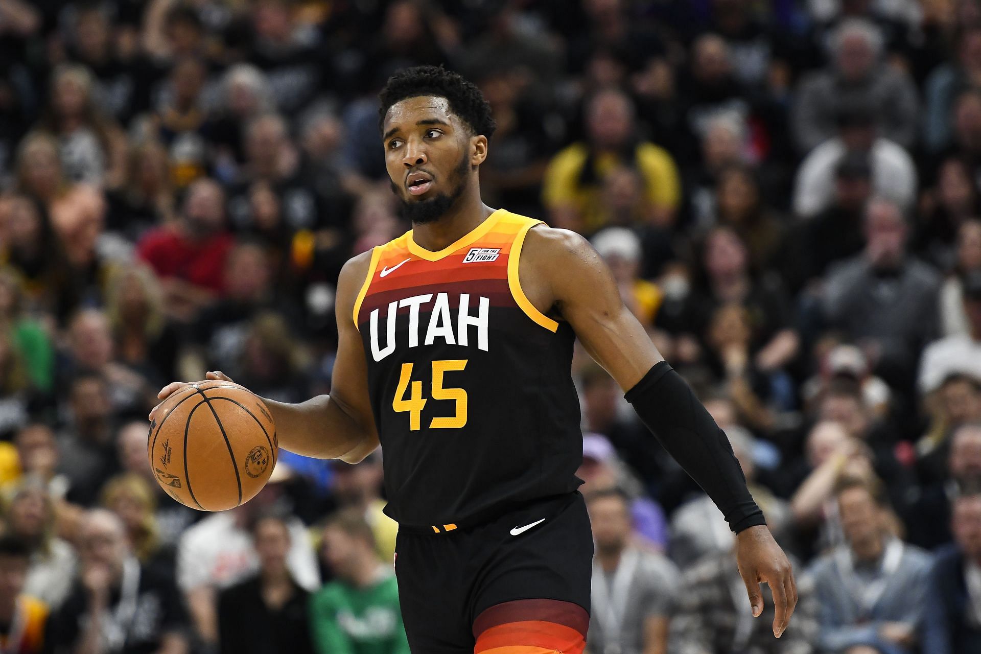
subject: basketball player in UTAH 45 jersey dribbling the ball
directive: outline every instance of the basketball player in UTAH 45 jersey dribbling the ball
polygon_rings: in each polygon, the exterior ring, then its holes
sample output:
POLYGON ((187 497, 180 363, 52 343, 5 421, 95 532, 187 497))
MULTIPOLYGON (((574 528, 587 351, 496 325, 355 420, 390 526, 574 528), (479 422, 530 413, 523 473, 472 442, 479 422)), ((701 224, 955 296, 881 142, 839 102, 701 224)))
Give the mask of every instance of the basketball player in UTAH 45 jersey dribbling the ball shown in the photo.
POLYGON ((480 90, 421 67, 393 75, 381 100, 388 176, 413 228, 340 273, 331 394, 266 402, 287 450, 353 463, 381 442, 412 651, 584 650, 577 337, 738 534, 752 613, 765 581, 779 636, 797 587, 725 434, 585 238, 482 202, 494 123, 480 90))

